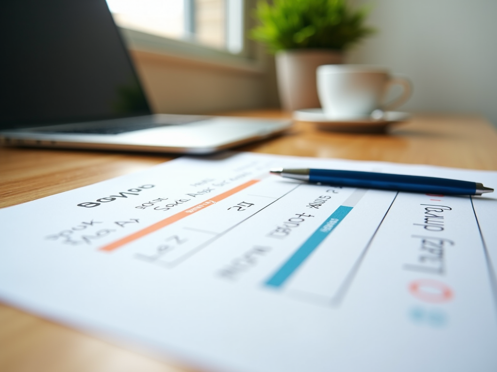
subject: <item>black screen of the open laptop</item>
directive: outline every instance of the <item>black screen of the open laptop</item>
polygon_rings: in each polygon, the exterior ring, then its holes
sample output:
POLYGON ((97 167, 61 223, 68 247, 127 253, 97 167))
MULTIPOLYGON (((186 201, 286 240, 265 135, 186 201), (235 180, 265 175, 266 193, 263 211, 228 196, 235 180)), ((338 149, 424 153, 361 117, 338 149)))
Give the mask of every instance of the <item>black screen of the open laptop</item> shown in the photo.
POLYGON ((0 128, 150 114, 105 0, 0 1, 0 128))

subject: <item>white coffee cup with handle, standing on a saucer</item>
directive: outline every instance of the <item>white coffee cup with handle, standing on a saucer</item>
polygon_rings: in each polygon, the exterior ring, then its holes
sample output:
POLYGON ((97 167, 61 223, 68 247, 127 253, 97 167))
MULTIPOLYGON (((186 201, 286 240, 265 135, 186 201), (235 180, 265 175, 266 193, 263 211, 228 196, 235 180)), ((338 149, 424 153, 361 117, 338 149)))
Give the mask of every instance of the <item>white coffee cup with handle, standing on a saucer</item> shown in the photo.
POLYGON ((407 77, 386 68, 361 64, 325 64, 317 69, 318 95, 325 116, 331 120, 369 117, 374 110, 389 111, 411 96, 407 77), (390 87, 401 85, 402 94, 386 103, 390 87))

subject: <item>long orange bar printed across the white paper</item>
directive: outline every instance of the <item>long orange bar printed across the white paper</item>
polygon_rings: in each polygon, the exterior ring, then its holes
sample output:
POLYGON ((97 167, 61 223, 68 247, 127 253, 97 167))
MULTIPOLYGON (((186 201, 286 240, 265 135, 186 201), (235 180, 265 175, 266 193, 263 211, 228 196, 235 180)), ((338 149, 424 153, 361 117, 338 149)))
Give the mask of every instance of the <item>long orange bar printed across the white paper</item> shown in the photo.
POLYGON ((228 196, 231 196, 233 194, 236 194, 238 191, 243 190, 244 188, 247 188, 248 186, 251 186, 253 184, 256 184, 259 182, 259 180, 251 180, 246 182, 245 184, 242 184, 240 186, 234 187, 231 190, 228 190, 226 192, 223 192, 222 194, 219 194, 217 196, 212 197, 211 199, 208 199, 204 201, 203 203, 197 204, 191 208, 185 209, 184 211, 181 211, 179 213, 173 214, 170 217, 165 218, 162 221, 159 221, 153 225, 150 225, 149 227, 146 227, 145 229, 142 229, 140 231, 137 231, 136 233, 133 233, 131 235, 128 235, 127 237, 124 237, 122 239, 119 239, 113 243, 107 244, 106 246, 103 246, 102 248, 99 248, 99 250, 104 250, 107 252, 110 252, 114 249, 121 248, 122 246, 131 243, 137 239, 140 239, 144 237, 145 235, 148 235, 150 233, 153 233, 154 231, 157 231, 159 229, 162 229, 163 227, 166 227, 167 225, 172 224, 173 222, 179 221, 182 218, 185 218, 193 213, 198 212, 199 210, 205 209, 208 206, 211 206, 213 204, 216 204, 218 201, 221 201, 223 199, 226 199, 228 196))

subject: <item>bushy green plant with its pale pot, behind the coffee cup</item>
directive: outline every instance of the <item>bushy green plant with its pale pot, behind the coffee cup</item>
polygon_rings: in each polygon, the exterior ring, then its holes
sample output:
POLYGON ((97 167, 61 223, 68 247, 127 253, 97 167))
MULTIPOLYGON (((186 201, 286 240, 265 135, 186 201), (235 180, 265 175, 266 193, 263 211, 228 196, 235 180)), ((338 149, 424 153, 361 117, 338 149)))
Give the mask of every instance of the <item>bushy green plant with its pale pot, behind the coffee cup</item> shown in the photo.
POLYGON ((276 56, 280 100, 285 110, 320 107, 316 68, 343 63, 343 53, 374 30, 364 25, 367 10, 346 0, 264 0, 251 37, 276 56))

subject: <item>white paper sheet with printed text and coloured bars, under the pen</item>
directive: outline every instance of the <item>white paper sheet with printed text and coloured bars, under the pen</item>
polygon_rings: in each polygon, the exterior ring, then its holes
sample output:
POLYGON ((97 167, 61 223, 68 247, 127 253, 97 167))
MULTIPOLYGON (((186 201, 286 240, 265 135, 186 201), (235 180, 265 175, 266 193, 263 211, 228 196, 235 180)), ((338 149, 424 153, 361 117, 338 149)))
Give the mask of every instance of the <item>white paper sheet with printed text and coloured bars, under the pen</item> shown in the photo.
POLYGON ((0 210, 0 298, 231 372, 497 371, 497 195, 310 185, 230 153, 0 210))

